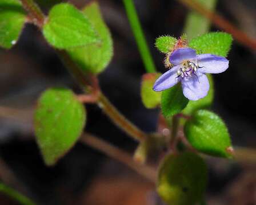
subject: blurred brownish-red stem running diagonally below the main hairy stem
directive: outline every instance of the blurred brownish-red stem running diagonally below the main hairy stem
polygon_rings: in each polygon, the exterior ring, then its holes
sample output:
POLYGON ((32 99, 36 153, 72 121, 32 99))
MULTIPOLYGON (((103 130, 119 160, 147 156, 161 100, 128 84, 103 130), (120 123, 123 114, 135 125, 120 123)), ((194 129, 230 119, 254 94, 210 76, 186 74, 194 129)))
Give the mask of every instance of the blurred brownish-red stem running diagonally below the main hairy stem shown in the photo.
POLYGON ((125 151, 120 150, 117 147, 110 145, 108 142, 101 140, 98 137, 92 136, 91 134, 88 133, 83 134, 83 136, 81 137, 81 141, 84 144, 101 151, 102 153, 108 155, 109 157, 124 163, 131 169, 137 171, 137 173, 141 174, 146 179, 149 179, 149 181, 155 183, 157 176, 155 169, 146 165, 142 165, 141 163, 135 162, 133 160, 133 157, 131 157, 130 154, 126 153, 125 151))

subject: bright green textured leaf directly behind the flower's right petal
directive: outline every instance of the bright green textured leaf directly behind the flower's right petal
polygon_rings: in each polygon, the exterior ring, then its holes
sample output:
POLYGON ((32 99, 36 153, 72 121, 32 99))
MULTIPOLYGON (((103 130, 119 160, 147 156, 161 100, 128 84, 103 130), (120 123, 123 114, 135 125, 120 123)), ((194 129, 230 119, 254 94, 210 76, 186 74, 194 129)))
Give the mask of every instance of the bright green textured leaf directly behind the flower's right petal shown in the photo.
POLYGON ((210 32, 198 36, 189 42, 189 47, 197 50, 197 54, 214 54, 226 57, 232 43, 232 36, 225 32, 210 32))

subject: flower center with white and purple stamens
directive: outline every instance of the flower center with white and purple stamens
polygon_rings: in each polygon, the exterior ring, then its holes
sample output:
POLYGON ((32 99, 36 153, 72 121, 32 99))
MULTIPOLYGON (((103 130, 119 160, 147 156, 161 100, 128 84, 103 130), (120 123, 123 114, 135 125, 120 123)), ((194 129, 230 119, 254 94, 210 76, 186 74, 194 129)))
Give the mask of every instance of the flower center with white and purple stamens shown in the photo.
POLYGON ((197 62, 191 62, 190 60, 185 60, 181 67, 177 71, 177 77, 191 77, 193 75, 197 76, 195 72, 197 72, 197 69, 199 68, 199 65, 197 62))

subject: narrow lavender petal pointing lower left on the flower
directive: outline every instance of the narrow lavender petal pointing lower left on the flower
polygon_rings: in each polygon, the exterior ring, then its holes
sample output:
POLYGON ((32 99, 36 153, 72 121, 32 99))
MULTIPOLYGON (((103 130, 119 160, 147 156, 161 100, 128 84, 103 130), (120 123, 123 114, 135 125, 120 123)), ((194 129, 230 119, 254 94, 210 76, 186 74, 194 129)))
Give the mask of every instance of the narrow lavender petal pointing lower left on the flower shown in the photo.
POLYGON ((177 84, 179 82, 179 78, 176 78, 178 68, 179 66, 174 66, 173 68, 169 69, 169 71, 163 73, 163 75, 161 75, 157 81, 155 81, 153 90, 163 91, 177 84))

